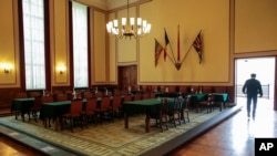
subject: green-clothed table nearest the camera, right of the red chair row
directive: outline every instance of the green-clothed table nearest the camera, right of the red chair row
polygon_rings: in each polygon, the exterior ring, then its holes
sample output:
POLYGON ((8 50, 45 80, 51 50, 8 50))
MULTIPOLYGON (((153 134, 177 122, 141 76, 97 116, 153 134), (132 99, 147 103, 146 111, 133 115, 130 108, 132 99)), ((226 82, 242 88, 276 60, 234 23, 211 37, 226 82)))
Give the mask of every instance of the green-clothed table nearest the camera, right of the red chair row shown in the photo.
MULTIPOLYGON (((173 102, 173 98, 170 98, 170 102, 173 102)), ((148 98, 141 101, 132 101, 123 103, 123 112, 124 112, 124 127, 129 128, 129 116, 134 113, 145 113, 145 132, 150 132, 150 118, 151 114, 158 110, 161 106, 161 98, 148 98)))

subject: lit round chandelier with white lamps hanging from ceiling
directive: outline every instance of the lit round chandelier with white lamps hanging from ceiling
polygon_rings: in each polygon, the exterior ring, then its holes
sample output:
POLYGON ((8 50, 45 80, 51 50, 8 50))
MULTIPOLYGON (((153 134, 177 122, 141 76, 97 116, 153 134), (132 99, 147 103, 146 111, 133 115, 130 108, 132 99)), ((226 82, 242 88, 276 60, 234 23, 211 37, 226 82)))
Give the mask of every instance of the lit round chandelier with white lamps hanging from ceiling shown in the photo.
POLYGON ((121 24, 119 25, 119 20, 112 20, 106 23, 106 31, 110 34, 115 35, 116 39, 132 38, 135 39, 144 37, 150 33, 151 24, 142 18, 130 18, 129 17, 129 0, 127 0, 127 17, 122 18, 121 24), (136 21, 136 23, 135 23, 136 21), (120 28, 121 25, 121 28, 120 28))

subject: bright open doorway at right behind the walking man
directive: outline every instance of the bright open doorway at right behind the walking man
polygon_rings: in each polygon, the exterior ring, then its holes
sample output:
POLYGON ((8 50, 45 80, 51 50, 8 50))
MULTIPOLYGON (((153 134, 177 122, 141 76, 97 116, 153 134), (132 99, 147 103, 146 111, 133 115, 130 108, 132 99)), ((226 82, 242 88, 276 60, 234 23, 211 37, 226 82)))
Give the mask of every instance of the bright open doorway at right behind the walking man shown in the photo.
POLYGON ((274 107, 275 95, 275 56, 268 58, 244 58, 235 60, 235 102, 240 105, 246 104, 246 95, 243 94, 243 85, 252 73, 256 73, 256 79, 260 81, 264 96, 258 98, 258 103, 265 103, 270 110, 274 107))

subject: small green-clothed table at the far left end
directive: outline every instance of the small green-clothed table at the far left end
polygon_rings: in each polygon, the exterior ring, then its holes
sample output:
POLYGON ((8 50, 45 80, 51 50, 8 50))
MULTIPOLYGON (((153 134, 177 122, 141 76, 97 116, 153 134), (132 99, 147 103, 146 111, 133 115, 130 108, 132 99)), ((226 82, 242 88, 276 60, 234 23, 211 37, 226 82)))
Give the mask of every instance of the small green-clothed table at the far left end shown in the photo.
POLYGON ((29 98, 13 98, 11 102, 11 112, 14 112, 16 119, 21 114, 21 118, 24 122, 24 115, 33 106, 34 97, 29 98))

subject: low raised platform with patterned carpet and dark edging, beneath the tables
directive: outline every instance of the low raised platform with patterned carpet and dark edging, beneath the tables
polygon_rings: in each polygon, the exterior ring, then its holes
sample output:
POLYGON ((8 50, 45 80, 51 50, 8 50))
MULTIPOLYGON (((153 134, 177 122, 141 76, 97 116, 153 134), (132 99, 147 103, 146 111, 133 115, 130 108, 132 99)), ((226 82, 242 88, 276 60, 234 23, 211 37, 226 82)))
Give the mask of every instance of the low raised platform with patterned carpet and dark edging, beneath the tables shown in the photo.
POLYGON ((193 116, 194 118, 192 118, 192 122, 188 124, 184 124, 176 128, 172 127, 170 128, 170 131, 166 131, 164 133, 161 133, 160 128, 153 128, 152 133, 150 134, 145 133, 143 129, 143 116, 138 118, 138 122, 134 119, 134 122, 138 124, 133 126, 131 125, 130 129, 123 128, 123 121, 116 121, 114 123, 104 123, 103 125, 99 126, 92 125, 92 127, 88 129, 76 129, 74 133, 71 133, 70 131, 54 132, 53 129, 41 127, 41 125, 34 124, 33 122, 23 123, 21 121, 14 119, 13 116, 10 116, 2 117, 0 119, 0 134, 14 139, 16 142, 20 142, 23 145, 29 146, 35 150, 40 150, 43 155, 130 155, 131 153, 133 153, 132 155, 144 156, 166 155, 175 148, 189 143, 189 141, 195 138, 197 135, 205 133, 206 131, 223 122, 227 117, 234 115, 238 111, 240 111, 239 106, 233 106, 226 108, 223 112, 218 112, 217 110, 214 111, 214 116, 211 116, 212 114, 198 113, 193 116), (205 121, 205 118, 208 119, 205 121), (110 129, 114 128, 120 131, 120 135, 115 137, 114 135, 119 134, 116 132, 114 134, 111 134, 113 133, 113 129, 107 131, 106 135, 101 134, 100 129, 103 129, 104 126, 107 126, 107 128, 110 129), (85 136, 84 134, 89 134, 91 138, 88 138, 88 135, 85 136), (96 135, 101 136, 102 139, 106 137, 107 141, 101 142, 101 138, 96 138, 96 135), (122 138, 124 137, 123 135, 127 135, 129 138, 125 138, 124 141, 122 138), (171 136, 171 138, 165 138, 167 136, 171 136), (131 138, 133 141, 130 141, 131 138), (70 142, 71 139, 74 139, 75 143, 72 143, 72 145, 70 145, 69 143, 64 143, 64 141, 70 142), (116 141, 119 143, 116 143, 116 141), (154 144, 158 145, 152 145, 151 143, 153 141, 157 142, 154 144), (112 142, 116 144, 112 144, 112 142), (88 146, 78 147, 80 144, 88 146), (134 146, 133 144, 136 145, 134 146), (138 144, 142 144, 141 147, 137 147, 138 144), (147 147, 142 147, 144 144, 147 147), (152 147, 150 148, 148 146, 152 147), (140 148, 141 152, 134 153, 134 150, 138 150, 140 148), (91 149, 92 152, 89 152, 89 149, 91 149))

